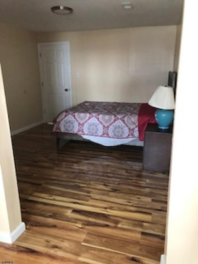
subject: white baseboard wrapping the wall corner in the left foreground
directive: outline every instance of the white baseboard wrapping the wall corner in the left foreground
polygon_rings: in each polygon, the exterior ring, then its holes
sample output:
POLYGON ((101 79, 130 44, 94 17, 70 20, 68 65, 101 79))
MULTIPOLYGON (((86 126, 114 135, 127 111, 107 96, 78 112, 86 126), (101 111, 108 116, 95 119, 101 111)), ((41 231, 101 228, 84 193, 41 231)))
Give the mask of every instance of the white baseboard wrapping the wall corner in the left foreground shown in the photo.
POLYGON ((11 233, 0 232, 0 242, 12 244, 25 231, 25 223, 21 222, 11 233))

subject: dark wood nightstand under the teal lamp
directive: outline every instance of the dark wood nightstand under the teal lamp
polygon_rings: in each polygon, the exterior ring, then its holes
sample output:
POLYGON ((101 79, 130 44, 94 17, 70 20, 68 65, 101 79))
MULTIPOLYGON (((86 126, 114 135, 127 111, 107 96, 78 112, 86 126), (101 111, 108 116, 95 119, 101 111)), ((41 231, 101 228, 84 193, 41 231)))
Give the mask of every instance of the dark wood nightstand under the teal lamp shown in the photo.
POLYGON ((157 124, 148 124, 144 132, 143 169, 156 172, 168 172, 172 128, 158 129, 157 124))

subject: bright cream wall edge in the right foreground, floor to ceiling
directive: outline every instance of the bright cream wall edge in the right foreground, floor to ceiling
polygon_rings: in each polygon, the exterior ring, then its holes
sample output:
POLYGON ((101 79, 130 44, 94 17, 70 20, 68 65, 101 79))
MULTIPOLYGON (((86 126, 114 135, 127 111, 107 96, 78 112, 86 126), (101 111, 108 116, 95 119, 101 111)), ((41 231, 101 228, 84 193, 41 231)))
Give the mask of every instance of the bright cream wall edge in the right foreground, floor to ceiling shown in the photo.
POLYGON ((197 8, 197 2, 185 1, 170 170, 166 264, 198 263, 197 8))

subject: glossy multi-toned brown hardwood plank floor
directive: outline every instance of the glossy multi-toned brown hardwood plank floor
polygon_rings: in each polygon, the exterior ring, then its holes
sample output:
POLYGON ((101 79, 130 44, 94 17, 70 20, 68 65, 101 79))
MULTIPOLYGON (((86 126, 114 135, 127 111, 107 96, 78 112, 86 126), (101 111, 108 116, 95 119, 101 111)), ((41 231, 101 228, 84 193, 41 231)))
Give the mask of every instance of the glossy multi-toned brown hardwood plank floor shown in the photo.
POLYGON ((141 147, 71 141, 56 150, 46 124, 15 135, 26 231, 0 261, 159 263, 168 176, 142 170, 141 147))

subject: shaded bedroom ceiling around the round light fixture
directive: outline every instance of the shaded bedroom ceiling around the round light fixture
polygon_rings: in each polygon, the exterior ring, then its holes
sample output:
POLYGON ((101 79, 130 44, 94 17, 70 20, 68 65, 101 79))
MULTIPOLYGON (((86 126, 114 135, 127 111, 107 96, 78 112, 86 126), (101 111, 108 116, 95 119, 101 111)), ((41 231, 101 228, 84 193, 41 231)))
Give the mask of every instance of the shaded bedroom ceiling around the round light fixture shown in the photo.
POLYGON ((0 22, 32 31, 76 31, 107 28, 177 25, 183 0, 0 0, 0 22), (130 10, 121 3, 131 2, 130 10), (52 6, 72 7, 56 15, 52 6))

